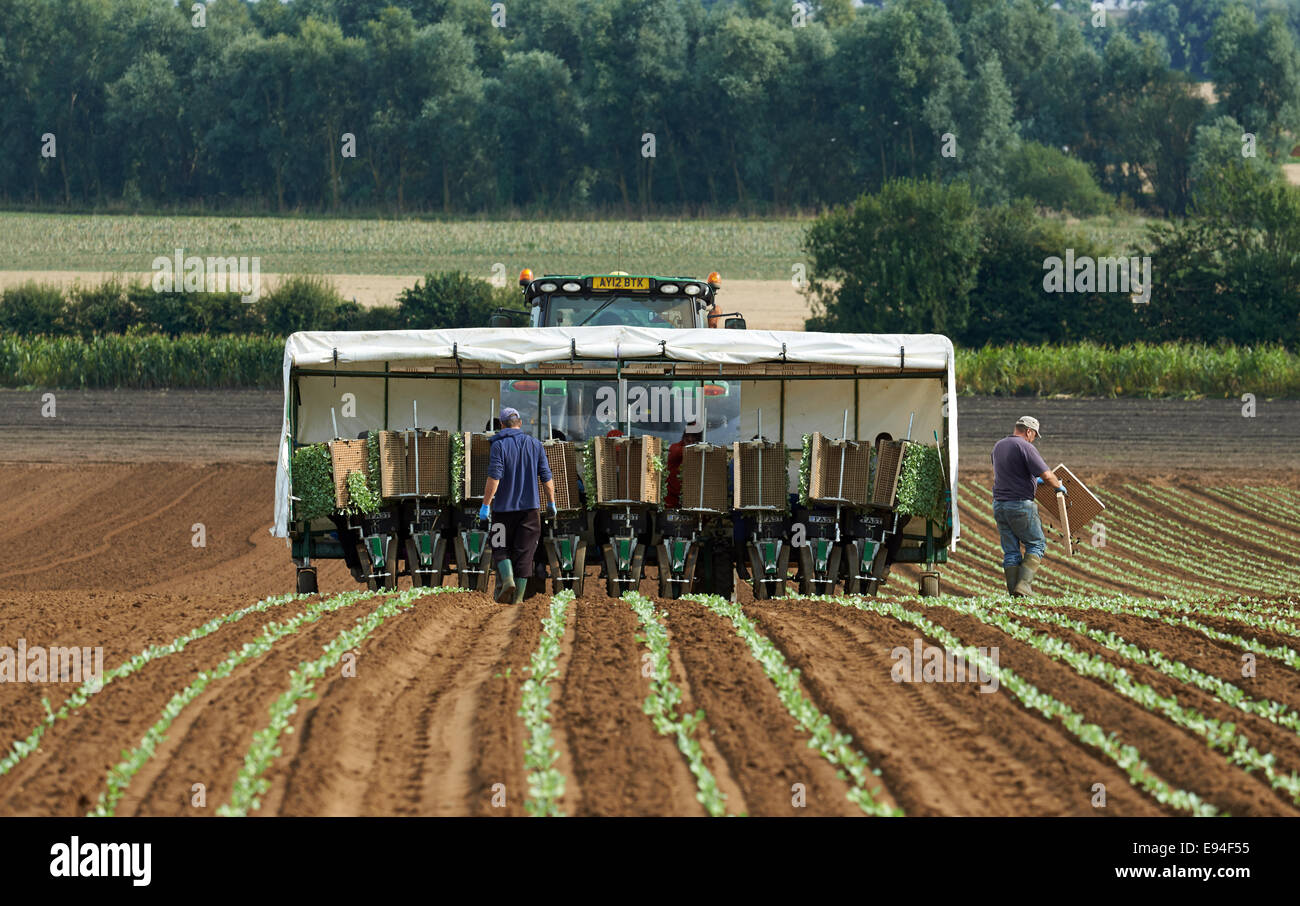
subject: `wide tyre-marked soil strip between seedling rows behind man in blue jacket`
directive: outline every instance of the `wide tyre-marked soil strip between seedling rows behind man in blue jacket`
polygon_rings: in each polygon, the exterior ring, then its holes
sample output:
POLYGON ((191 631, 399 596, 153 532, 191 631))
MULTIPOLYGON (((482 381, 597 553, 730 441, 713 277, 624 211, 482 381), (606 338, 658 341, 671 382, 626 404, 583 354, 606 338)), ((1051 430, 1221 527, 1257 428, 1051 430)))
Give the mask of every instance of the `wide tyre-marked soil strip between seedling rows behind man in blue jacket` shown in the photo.
POLYGON ((321 684, 295 723, 292 750, 269 775, 283 797, 268 798, 266 814, 525 814, 515 715, 545 607, 443 594, 386 624, 356 676, 321 684))

